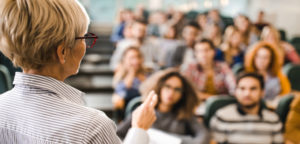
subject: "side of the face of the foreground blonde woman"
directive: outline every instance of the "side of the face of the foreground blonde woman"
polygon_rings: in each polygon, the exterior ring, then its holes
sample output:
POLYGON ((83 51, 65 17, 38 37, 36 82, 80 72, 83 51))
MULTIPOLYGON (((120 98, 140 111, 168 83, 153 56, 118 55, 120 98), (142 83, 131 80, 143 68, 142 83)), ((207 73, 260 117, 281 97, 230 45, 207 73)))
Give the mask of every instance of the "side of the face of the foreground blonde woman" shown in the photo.
POLYGON ((85 40, 76 40, 75 47, 69 51, 66 58, 65 72, 68 76, 77 74, 81 60, 86 51, 85 40))

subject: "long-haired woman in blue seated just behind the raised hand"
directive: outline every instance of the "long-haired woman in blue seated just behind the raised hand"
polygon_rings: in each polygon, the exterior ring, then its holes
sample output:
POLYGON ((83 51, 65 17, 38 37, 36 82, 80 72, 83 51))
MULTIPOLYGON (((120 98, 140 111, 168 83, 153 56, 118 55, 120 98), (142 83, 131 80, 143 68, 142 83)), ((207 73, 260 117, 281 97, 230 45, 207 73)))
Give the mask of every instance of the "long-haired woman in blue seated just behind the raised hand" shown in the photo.
POLYGON ((113 104, 117 109, 124 109, 128 102, 140 96, 140 84, 146 79, 146 71, 143 68, 143 55, 136 47, 125 50, 121 65, 113 78, 113 104))

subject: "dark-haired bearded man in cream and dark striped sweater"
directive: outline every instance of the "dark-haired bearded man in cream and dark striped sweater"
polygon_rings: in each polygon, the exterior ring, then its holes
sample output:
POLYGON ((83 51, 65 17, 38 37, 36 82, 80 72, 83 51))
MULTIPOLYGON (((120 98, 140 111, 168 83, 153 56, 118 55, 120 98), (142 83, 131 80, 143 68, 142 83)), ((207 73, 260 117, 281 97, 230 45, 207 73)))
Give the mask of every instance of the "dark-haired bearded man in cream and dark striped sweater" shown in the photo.
POLYGON ((264 77, 243 73, 237 78, 237 104, 219 109, 210 121, 213 139, 226 144, 283 143, 282 124, 262 105, 264 77))

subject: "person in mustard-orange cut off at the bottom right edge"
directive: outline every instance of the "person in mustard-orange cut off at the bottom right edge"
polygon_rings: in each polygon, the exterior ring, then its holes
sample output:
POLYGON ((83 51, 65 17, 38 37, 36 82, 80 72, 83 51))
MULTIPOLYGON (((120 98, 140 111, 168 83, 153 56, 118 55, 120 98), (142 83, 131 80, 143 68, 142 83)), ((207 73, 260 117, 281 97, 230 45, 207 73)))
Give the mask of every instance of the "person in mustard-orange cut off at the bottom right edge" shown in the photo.
POLYGON ((300 142, 300 94, 296 94, 290 106, 285 123, 286 144, 299 144, 300 142))

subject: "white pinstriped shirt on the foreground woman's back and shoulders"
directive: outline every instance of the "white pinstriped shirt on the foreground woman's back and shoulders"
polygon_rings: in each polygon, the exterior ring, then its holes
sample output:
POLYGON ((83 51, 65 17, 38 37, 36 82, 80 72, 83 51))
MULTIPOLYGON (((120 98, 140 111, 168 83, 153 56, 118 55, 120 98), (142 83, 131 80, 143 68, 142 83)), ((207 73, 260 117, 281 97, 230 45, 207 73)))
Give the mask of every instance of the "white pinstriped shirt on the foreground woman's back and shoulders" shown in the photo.
POLYGON ((103 112, 83 106, 81 91, 50 77, 16 73, 0 95, 1 144, 119 144, 103 112))

